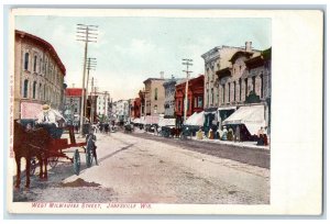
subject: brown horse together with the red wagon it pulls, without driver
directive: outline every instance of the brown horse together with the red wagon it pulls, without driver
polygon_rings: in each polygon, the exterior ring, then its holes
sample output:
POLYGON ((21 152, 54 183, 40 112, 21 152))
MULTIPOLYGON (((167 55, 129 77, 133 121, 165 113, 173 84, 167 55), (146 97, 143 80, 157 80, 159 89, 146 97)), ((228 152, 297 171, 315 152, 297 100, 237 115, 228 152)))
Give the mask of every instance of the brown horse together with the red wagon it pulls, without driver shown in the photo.
POLYGON ((47 166, 54 168, 65 159, 73 163, 74 173, 80 172, 80 153, 86 153, 86 166, 90 167, 95 154, 94 134, 88 134, 86 139, 78 143, 75 138, 74 126, 57 127, 55 124, 36 124, 34 121, 26 123, 24 120, 14 120, 13 150, 16 163, 16 183, 21 182, 21 158, 25 158, 26 184, 30 187, 30 176, 40 167, 40 178, 47 179, 47 166), (62 138, 64 132, 68 138, 62 138), (68 150, 75 148, 74 150, 68 150), (73 154, 73 157, 68 155, 73 154), (59 159, 59 158, 64 158, 59 159), (37 161, 37 163, 36 163, 37 161))

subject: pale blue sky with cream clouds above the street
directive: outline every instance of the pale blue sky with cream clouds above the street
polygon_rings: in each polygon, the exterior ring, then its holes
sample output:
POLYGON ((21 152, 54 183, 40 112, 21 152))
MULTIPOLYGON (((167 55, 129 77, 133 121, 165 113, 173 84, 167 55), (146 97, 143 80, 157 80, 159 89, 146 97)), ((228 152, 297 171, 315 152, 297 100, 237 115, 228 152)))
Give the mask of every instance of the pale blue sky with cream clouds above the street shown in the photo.
MULTIPOLYGON (((270 19, 55 16, 16 15, 15 29, 51 43, 66 67, 65 82, 82 85, 84 43, 77 24, 98 25, 97 43, 88 44, 88 57, 97 58, 90 71, 99 91, 111 98, 133 99, 147 78, 174 75, 184 78, 183 58, 191 58, 191 77, 205 72, 201 55, 216 46, 272 46, 270 19)), ((90 80, 89 80, 90 87, 90 80)))

